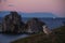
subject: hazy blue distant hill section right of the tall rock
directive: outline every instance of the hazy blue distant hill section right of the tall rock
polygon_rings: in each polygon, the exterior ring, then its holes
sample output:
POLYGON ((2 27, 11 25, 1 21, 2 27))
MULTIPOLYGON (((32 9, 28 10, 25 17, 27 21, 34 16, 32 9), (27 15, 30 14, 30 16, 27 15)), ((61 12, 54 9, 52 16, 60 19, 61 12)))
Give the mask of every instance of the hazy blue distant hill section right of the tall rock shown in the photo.
POLYGON ((52 13, 20 13, 23 17, 57 17, 52 13))

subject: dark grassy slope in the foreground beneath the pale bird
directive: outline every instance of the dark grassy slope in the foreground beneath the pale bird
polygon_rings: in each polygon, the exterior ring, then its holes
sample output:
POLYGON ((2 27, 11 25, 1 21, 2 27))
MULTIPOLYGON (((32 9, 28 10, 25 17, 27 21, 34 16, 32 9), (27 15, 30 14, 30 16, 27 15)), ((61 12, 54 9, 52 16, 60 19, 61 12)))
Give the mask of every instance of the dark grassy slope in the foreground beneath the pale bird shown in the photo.
POLYGON ((65 26, 53 30, 54 34, 47 35, 43 32, 31 34, 28 38, 12 43, 65 43, 65 26))

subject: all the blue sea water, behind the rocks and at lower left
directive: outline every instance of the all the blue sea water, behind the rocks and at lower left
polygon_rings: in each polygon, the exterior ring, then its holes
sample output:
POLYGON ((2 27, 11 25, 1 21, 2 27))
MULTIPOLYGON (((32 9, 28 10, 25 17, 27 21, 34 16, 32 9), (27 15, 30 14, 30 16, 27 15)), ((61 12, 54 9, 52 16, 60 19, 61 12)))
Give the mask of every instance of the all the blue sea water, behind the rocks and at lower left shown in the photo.
MULTIPOLYGON (((30 19, 30 18, 23 18, 23 22, 26 23, 28 19, 30 19)), ((65 18, 39 18, 39 19, 44 22, 50 29, 54 29, 60 26, 63 26, 63 22, 65 22, 65 18)), ((6 35, 6 34, 0 33, 0 43, 10 43, 11 41, 26 38, 26 37, 28 37, 28 35, 27 34, 6 35)))

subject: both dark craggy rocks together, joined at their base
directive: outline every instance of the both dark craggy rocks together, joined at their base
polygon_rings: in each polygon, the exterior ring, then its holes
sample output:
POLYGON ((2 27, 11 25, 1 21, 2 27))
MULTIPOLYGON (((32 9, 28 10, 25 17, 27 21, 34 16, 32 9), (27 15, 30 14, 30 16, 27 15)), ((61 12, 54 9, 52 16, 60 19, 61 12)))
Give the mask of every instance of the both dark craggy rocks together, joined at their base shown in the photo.
POLYGON ((11 12, 2 20, 2 33, 38 33, 42 32, 42 26, 46 25, 38 18, 31 18, 26 22, 17 12, 11 12))

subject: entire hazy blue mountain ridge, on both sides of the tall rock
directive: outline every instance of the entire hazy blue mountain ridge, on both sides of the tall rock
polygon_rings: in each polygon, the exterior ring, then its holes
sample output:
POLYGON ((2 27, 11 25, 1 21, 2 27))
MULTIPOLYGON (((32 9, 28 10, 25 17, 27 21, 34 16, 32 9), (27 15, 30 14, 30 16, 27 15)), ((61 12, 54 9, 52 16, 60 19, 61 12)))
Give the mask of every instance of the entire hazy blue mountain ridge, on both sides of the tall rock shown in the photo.
MULTIPOLYGON (((52 13, 22 13, 22 12, 17 12, 17 13, 22 15, 22 17, 57 17, 52 13)), ((0 12, 0 17, 3 17, 8 14, 10 14, 10 11, 0 12)))

